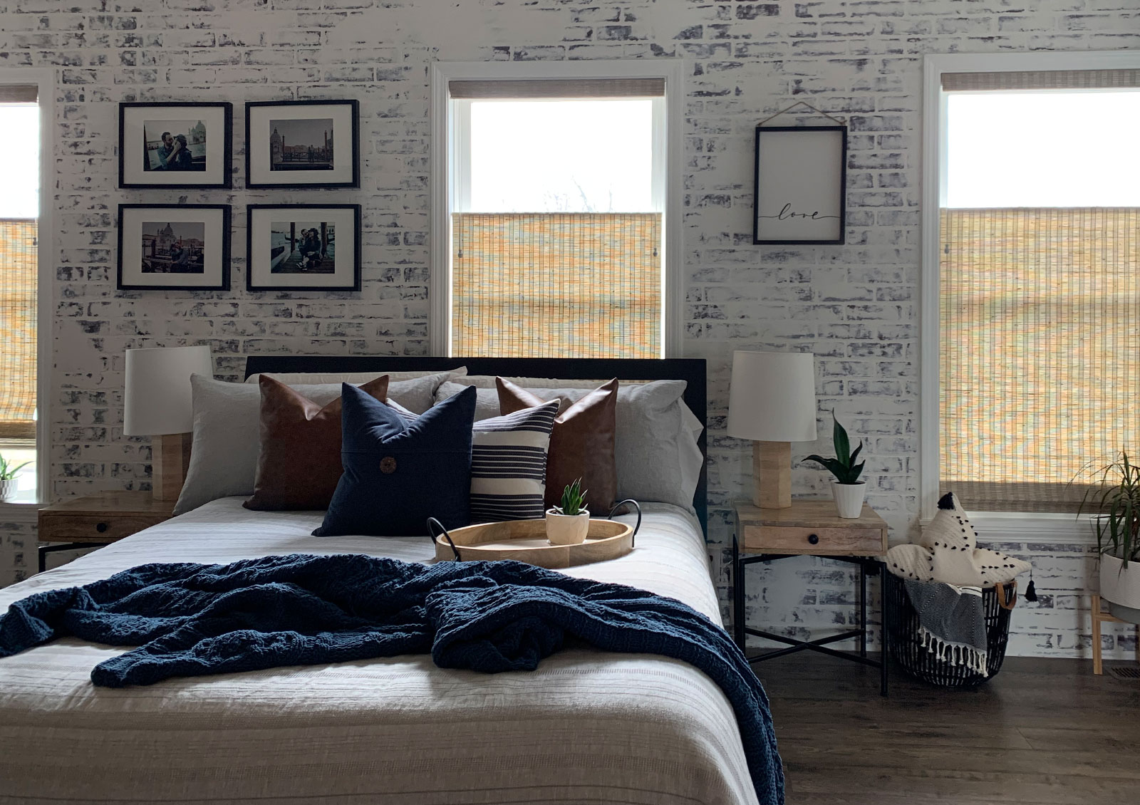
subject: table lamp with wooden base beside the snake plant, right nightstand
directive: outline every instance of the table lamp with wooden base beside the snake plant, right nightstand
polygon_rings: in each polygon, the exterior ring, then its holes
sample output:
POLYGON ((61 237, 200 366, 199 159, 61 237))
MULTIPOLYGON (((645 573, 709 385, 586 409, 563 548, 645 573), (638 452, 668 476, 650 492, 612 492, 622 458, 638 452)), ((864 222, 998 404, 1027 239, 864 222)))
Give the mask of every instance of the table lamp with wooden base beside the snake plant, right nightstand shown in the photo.
POLYGON ((732 353, 728 436, 752 441, 752 503, 791 506, 791 442, 815 441, 815 356, 732 353))

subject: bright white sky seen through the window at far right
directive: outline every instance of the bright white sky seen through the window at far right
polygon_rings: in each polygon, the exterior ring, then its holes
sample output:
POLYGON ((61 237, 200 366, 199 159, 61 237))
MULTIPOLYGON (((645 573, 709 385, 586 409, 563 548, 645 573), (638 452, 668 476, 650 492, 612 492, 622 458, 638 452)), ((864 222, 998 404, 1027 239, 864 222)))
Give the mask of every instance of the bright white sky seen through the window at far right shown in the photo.
POLYGON ((1140 90, 947 101, 946 206, 1140 206, 1140 90))

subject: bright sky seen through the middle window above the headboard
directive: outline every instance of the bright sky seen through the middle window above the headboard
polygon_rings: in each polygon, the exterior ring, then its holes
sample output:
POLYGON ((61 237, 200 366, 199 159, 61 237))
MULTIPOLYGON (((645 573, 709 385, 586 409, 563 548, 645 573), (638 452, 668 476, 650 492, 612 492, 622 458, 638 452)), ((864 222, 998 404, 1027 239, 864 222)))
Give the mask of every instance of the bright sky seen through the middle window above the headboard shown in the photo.
POLYGON ((653 101, 477 100, 464 212, 656 212, 653 101))

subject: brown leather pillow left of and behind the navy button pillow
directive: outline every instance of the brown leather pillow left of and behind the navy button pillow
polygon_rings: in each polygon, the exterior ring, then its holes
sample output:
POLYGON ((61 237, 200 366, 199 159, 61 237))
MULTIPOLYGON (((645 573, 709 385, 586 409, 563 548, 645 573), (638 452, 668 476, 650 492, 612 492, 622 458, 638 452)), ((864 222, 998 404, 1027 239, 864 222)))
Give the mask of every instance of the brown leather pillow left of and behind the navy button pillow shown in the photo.
MULTIPOLYGON (((261 455, 253 497, 260 511, 328 509, 341 480, 341 398, 321 407, 267 375, 261 387, 261 455)), ((360 387, 377 400, 388 396, 388 375, 360 387)))

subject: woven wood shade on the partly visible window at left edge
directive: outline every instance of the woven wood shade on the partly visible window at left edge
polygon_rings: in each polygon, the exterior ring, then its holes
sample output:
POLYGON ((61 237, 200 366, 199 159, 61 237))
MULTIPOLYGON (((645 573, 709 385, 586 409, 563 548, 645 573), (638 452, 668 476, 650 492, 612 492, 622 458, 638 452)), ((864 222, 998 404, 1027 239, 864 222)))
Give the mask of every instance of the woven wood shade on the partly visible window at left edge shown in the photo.
POLYGON ((35 438, 36 221, 0 220, 0 438, 35 438))

